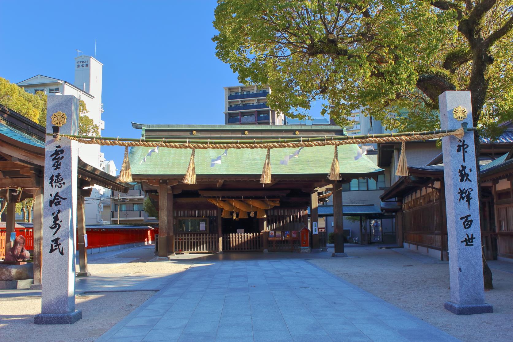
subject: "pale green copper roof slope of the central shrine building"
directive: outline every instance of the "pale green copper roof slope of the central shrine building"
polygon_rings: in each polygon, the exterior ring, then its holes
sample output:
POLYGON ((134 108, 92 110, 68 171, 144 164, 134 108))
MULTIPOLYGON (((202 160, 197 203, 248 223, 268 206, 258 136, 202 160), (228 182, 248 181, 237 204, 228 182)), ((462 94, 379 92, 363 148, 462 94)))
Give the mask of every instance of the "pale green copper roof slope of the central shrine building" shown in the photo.
MULTIPOLYGON (((130 149, 130 166, 134 175, 184 175, 191 156, 190 149, 159 148, 159 153, 148 154, 148 147, 130 149)), ((280 161, 293 154, 297 148, 271 149, 272 175, 328 174, 333 160, 333 146, 305 147, 299 158, 291 158, 288 165, 280 161)), ((366 156, 354 160, 357 145, 338 147, 341 174, 373 174, 383 169, 366 156)), ((260 175, 264 166, 265 149, 229 149, 221 164, 210 166, 211 160, 223 154, 223 149, 196 149, 194 165, 196 175, 260 175)))

